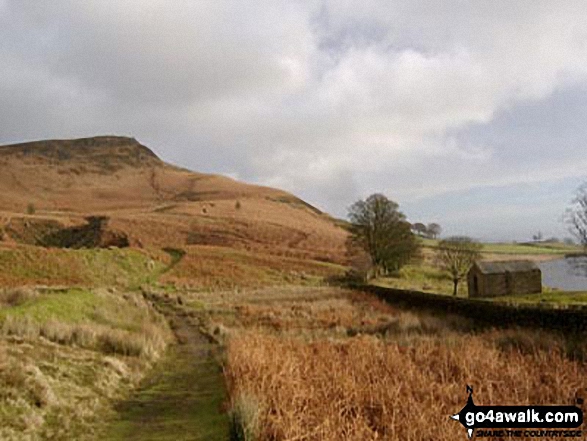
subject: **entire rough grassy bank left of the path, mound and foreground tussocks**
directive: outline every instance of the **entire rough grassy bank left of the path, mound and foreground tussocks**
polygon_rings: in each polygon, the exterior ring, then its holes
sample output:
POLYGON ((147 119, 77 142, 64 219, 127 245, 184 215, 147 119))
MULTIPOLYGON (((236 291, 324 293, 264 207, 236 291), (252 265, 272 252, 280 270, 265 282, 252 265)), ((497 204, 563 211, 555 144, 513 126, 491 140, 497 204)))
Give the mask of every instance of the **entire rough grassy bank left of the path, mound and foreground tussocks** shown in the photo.
POLYGON ((135 293, 0 291, 0 439, 92 439, 170 338, 135 293))

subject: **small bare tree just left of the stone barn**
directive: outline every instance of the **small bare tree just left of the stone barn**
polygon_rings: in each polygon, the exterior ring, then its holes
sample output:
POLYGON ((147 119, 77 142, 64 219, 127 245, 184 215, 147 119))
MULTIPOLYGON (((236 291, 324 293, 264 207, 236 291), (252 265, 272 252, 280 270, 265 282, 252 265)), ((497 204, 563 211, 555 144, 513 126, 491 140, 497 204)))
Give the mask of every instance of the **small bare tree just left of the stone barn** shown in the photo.
POLYGON ((452 277, 453 295, 459 282, 479 258, 481 244, 466 236, 452 236, 438 244, 438 259, 442 268, 452 277))

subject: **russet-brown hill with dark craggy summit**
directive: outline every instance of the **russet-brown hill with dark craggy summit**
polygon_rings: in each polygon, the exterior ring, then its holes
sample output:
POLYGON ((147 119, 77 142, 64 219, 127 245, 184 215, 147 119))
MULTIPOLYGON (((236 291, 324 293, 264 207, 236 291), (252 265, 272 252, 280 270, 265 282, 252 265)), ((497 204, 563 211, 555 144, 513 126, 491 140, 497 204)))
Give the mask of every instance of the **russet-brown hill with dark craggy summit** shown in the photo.
POLYGON ((135 246, 341 261, 346 237, 330 216, 287 192, 172 166, 132 138, 0 146, 0 240, 42 244, 92 215, 108 217, 135 246))

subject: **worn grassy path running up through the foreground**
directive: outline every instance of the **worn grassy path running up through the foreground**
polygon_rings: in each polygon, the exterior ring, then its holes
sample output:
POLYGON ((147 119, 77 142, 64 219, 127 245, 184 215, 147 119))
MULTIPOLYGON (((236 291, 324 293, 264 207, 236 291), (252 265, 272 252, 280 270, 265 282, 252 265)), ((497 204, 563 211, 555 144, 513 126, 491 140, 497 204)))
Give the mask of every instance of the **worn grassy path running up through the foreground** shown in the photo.
POLYGON ((107 440, 228 440, 228 417, 221 412, 224 382, 210 343, 189 317, 159 305, 170 319, 178 344, 126 401, 107 440))

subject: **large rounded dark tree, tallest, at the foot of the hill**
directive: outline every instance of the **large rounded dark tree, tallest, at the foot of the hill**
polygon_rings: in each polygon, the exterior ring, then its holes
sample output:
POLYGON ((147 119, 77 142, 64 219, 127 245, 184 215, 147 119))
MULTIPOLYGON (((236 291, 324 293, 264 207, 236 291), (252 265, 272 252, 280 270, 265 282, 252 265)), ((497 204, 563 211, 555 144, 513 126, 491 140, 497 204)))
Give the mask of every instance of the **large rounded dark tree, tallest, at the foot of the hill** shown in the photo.
POLYGON ((374 275, 399 270, 415 255, 418 244, 398 204, 373 194, 349 208, 350 243, 365 250, 374 275))

